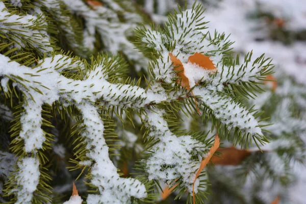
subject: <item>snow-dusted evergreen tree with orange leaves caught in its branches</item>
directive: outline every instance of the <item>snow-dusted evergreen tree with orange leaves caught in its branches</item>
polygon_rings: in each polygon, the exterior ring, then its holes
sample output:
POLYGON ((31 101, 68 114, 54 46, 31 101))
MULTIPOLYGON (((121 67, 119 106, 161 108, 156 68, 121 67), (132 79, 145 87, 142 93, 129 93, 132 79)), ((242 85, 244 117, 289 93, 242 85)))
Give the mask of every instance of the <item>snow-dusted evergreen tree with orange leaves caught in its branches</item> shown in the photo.
POLYGON ((201 3, 1 1, 0 201, 286 203, 304 85, 201 3))

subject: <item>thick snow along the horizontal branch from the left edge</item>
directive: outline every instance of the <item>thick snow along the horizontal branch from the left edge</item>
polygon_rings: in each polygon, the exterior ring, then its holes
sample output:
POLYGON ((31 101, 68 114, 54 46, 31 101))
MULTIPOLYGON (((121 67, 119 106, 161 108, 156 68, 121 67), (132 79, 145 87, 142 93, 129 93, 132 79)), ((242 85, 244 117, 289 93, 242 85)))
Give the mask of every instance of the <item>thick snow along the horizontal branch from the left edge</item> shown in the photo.
MULTIPOLYGON (((0 66, 0 74, 5 76, 3 80, 7 82, 6 77, 13 80, 14 86, 22 90, 27 99, 32 98, 38 104, 52 104, 64 98, 78 104, 84 99, 95 101, 102 98, 110 106, 139 108, 145 104, 159 103, 167 99, 165 95, 145 91, 138 86, 108 82, 106 71, 120 65, 107 56, 103 59, 103 63, 91 67, 92 70, 88 71, 85 80, 68 79, 59 73, 65 68, 75 67, 76 63, 75 60, 71 61, 62 55, 41 60, 34 69, 10 62, 10 59, 3 55, 0 56, 0 60, 3 62, 0 66)), ((83 69, 84 64, 80 66, 83 69)), ((6 90, 5 87, 4 89, 6 90)))

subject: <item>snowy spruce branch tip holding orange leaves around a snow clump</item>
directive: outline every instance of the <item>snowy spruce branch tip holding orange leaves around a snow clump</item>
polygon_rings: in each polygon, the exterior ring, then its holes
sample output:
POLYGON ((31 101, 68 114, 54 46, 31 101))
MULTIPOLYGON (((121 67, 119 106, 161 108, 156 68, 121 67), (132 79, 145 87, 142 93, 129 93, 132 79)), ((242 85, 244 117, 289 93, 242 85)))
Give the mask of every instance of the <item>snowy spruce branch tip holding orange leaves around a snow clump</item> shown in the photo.
MULTIPOLYGON (((165 29, 139 29, 138 47, 145 52, 150 51, 153 58, 150 64, 151 78, 175 83, 200 97, 204 110, 220 120, 228 131, 239 133, 237 140, 252 137, 255 142, 264 142, 261 127, 256 118, 241 103, 240 96, 249 96, 252 90, 261 90, 259 80, 264 80, 271 73, 273 65, 264 55, 251 61, 251 54, 245 56, 240 64, 226 56, 232 42, 227 41, 224 34, 203 34, 206 22, 202 21, 203 9, 200 5, 192 9, 170 15, 165 29), (177 78, 182 78, 178 81, 177 78), (239 97, 234 88, 236 85, 239 97), (226 88, 226 90, 225 90, 226 88)), ((257 113, 256 113, 257 114, 257 113)), ((254 114, 254 115, 256 115, 254 114)), ((243 141, 243 140, 242 140, 243 141)), ((247 141, 247 140, 246 140, 247 141)))

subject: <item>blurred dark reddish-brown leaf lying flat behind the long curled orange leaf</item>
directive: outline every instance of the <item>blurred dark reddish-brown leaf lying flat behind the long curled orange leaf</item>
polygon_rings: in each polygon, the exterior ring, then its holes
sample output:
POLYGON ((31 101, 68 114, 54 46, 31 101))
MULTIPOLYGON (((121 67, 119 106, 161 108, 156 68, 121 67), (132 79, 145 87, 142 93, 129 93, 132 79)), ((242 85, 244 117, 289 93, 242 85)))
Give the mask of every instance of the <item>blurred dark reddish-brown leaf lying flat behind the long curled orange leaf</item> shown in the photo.
POLYGON ((234 146, 218 148, 222 155, 221 158, 213 156, 211 162, 219 165, 239 165, 247 156, 251 154, 251 151, 245 149, 236 149, 234 146))

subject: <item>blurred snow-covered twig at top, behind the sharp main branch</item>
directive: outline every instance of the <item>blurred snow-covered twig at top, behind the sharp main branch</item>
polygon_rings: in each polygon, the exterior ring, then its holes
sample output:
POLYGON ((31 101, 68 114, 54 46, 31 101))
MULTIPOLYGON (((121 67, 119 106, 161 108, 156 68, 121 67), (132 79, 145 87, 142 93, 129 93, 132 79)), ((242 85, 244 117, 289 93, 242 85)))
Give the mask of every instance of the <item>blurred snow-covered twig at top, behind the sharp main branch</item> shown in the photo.
MULTIPOLYGON (((134 45, 127 39, 126 35, 133 28, 136 28, 136 23, 120 22, 117 14, 104 6, 96 6, 95 9, 90 9, 81 0, 62 0, 67 8, 85 19, 86 29, 84 31, 84 45, 88 48, 94 48, 95 32, 101 36, 106 50, 117 54, 122 51, 129 59, 135 60, 139 65, 146 67, 147 59, 142 53, 135 52, 134 45)), ((119 5, 113 1, 107 1, 114 10, 122 10, 119 5)))

